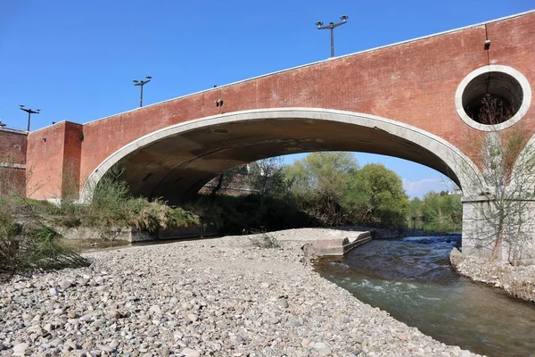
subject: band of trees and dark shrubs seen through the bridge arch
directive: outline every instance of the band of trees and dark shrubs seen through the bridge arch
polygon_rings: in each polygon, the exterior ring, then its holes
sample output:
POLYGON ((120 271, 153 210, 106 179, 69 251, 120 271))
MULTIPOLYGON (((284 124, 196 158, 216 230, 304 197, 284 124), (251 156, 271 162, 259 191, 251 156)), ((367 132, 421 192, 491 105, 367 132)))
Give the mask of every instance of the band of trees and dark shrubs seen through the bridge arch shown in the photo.
POLYGON ((409 201, 398 174, 377 163, 360 167, 351 153, 313 153, 291 165, 280 158, 253 162, 222 173, 209 187, 193 210, 203 207, 199 214, 222 234, 343 225, 461 228, 460 195, 431 192, 409 201))

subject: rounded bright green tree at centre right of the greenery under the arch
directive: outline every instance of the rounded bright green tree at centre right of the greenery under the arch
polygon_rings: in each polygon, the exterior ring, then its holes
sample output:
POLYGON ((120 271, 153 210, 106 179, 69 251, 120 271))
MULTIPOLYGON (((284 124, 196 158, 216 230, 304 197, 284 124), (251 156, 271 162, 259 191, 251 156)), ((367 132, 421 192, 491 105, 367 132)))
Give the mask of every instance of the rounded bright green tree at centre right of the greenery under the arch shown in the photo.
POLYGON ((383 164, 366 164, 351 175, 344 204, 362 224, 401 227, 409 201, 398 174, 383 164))

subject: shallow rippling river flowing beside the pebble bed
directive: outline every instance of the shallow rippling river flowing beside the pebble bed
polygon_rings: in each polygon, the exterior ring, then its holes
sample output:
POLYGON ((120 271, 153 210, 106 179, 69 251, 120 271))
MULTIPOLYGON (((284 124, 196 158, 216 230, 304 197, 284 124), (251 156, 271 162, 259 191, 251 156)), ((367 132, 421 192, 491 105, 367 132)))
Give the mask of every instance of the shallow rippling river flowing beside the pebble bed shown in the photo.
POLYGON ((507 297, 451 270, 460 237, 373 240, 315 263, 359 300, 447 345, 488 356, 535 356, 535 303, 507 297))

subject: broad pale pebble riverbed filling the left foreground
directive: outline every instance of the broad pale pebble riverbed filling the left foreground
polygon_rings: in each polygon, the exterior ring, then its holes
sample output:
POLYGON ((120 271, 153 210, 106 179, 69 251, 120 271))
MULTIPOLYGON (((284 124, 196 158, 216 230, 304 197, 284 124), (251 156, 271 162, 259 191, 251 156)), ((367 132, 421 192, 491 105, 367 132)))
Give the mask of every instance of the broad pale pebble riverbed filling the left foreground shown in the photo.
POLYGON ((321 278, 301 245, 127 247, 87 253, 88 268, 16 278, 0 285, 0 355, 474 355, 321 278))

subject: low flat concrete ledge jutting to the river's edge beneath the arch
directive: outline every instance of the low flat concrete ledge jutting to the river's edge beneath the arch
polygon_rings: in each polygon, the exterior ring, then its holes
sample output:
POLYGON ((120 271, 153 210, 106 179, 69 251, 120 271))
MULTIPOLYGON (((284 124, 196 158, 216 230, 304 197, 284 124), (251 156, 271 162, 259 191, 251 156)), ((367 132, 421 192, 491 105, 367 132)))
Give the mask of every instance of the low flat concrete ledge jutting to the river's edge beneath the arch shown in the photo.
POLYGON ((298 241, 303 243, 303 249, 316 255, 343 255, 358 245, 364 245, 372 239, 369 231, 348 231, 327 228, 303 228, 309 230, 310 235, 295 235, 292 230, 278 232, 276 238, 281 241, 298 241), (305 248, 306 247, 306 248, 305 248))

